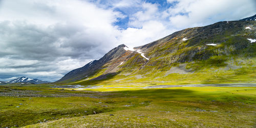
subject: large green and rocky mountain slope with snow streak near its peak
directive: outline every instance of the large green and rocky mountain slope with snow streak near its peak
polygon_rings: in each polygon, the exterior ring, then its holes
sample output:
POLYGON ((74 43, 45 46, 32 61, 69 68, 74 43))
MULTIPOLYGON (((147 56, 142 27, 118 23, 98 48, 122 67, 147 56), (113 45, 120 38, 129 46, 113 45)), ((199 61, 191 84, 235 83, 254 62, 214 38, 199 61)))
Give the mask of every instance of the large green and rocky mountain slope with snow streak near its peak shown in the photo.
POLYGON ((120 45, 55 83, 136 85, 255 82, 256 21, 218 22, 149 44, 120 45))

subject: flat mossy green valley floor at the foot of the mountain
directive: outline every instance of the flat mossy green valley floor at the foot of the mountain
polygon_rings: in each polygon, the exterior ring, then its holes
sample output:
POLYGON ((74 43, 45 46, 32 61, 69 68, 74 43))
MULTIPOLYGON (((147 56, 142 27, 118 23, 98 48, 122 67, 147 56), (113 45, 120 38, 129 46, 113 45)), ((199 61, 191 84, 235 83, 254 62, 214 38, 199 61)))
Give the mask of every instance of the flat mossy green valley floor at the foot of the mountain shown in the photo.
POLYGON ((1 127, 255 127, 256 124, 256 87, 75 91, 30 85, 1 86, 0 95, 1 127))

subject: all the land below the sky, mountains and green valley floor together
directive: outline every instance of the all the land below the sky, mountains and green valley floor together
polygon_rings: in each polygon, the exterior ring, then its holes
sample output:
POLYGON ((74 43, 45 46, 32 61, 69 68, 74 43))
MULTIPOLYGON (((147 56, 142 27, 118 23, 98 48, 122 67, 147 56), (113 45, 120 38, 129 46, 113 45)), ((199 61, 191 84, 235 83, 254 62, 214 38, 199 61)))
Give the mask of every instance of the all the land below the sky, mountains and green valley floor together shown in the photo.
POLYGON ((255 127, 254 17, 122 44, 55 82, 2 81, 0 127, 255 127))

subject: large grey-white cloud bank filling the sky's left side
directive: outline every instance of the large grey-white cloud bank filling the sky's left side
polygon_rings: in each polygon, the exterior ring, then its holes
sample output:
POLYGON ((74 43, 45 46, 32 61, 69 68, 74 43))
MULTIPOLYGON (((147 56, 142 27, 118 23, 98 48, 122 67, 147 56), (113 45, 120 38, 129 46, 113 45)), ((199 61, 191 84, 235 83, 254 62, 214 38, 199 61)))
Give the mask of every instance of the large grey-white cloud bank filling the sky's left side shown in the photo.
POLYGON ((113 23, 122 14, 89 2, 3 1, 0 15, 2 80, 57 80, 119 45, 113 23))

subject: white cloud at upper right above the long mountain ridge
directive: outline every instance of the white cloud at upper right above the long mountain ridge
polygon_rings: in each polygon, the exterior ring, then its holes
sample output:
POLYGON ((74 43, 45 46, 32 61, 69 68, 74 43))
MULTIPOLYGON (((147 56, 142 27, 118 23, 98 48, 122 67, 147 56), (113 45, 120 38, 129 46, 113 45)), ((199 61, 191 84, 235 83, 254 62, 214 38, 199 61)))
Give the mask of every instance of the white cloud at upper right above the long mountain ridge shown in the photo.
POLYGON ((256 13, 256 2, 251 0, 168 0, 176 2, 165 10, 170 24, 177 28, 204 26, 221 20, 238 20, 256 13))

